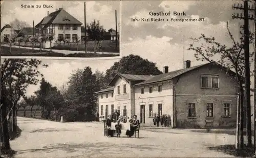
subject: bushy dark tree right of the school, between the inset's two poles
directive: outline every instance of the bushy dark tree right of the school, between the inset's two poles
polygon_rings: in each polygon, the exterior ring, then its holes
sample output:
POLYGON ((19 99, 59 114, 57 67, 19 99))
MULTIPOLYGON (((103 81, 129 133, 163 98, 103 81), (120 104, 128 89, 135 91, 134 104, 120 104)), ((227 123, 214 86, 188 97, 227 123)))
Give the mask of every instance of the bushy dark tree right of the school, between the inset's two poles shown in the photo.
POLYGON ((99 21, 96 20, 90 24, 87 23, 86 27, 90 39, 94 40, 94 52, 96 53, 97 41, 104 38, 105 30, 103 29, 103 25, 100 25, 99 21))

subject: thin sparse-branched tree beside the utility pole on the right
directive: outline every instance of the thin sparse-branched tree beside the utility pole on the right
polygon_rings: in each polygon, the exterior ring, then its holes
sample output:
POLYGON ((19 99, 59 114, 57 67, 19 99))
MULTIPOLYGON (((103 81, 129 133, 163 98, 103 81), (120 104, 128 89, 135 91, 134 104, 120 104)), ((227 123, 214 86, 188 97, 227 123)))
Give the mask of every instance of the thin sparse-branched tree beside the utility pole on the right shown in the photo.
MULTIPOLYGON (((201 43, 201 46, 194 46, 194 44, 190 44, 188 50, 194 50, 195 51, 195 57, 197 60, 201 61, 208 61, 213 62, 214 60, 212 57, 218 57, 219 60, 215 61, 220 65, 225 66, 229 70, 234 70, 236 72, 236 76, 234 79, 237 80, 239 88, 240 88, 240 136, 239 136, 239 148, 243 148, 244 140, 243 140, 243 119, 244 119, 244 35, 242 32, 242 37, 240 38, 240 41, 236 41, 231 34, 228 22, 227 22, 227 31, 229 34, 229 37, 232 41, 232 46, 227 46, 225 44, 222 44, 220 42, 217 42, 214 37, 206 37, 204 34, 201 34, 199 38, 192 38, 195 42, 201 43), (201 41, 201 42, 200 42, 201 41), (206 44, 205 44, 206 43, 206 44)), ((250 34, 250 43, 252 42, 252 34, 250 34)), ((253 56, 253 52, 250 53, 250 57, 253 56)), ((250 106, 250 105, 246 105, 250 106)), ((248 117, 248 116, 247 116, 248 117)), ((251 117, 251 116, 249 116, 251 117)))

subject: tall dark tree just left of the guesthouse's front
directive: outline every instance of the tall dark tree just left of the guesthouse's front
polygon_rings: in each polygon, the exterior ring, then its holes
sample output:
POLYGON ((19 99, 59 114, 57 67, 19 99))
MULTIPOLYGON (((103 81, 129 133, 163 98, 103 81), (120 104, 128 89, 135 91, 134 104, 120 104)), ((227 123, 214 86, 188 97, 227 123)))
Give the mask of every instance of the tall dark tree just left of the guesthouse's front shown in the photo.
POLYGON ((96 112, 96 76, 90 67, 75 71, 68 82, 67 93, 73 102, 73 108, 81 116, 81 120, 94 120, 96 112))

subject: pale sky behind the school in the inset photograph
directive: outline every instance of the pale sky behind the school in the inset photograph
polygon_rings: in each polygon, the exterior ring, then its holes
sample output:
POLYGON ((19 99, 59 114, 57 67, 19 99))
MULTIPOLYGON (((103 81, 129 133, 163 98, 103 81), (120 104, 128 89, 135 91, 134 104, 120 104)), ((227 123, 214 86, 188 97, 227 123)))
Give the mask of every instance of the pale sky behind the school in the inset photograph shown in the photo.
POLYGON ((17 18, 25 21, 32 27, 42 18, 47 16, 47 12, 54 12, 57 8, 63 8, 80 22, 84 23, 84 2, 86 2, 86 21, 99 20, 103 28, 115 30, 115 10, 117 10, 117 23, 119 23, 120 2, 119 1, 4 1, 2 3, 1 26, 10 23, 17 18), (21 5, 34 5, 34 8, 22 8, 21 5), (44 5, 53 8, 44 8, 44 5), (41 8, 36 8, 41 6, 41 8))

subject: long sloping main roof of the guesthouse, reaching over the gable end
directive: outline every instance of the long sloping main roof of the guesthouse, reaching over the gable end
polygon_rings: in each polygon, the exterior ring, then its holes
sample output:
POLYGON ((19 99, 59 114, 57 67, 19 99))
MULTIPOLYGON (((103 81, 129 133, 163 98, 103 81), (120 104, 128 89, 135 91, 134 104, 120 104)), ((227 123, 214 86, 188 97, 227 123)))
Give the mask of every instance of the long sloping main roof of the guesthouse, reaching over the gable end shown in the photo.
POLYGON ((168 73, 159 74, 159 75, 152 77, 150 80, 146 80, 144 82, 135 84, 134 86, 141 86, 141 85, 153 84, 153 83, 157 83, 157 82, 171 80, 174 77, 177 77, 179 75, 182 75, 184 73, 198 69, 198 68, 206 66, 206 65, 218 65, 218 66, 221 66, 222 68, 224 68, 225 70, 227 70, 228 72, 230 72, 232 74, 236 74, 233 71, 227 69, 226 67, 224 67, 220 64, 217 64, 216 62, 211 62, 211 63, 207 63, 207 64, 197 65, 197 66, 193 66, 193 67, 189 67, 189 68, 185 68, 185 69, 181 69, 181 70, 176 70, 176 71, 172 71, 172 72, 168 72, 168 73))

